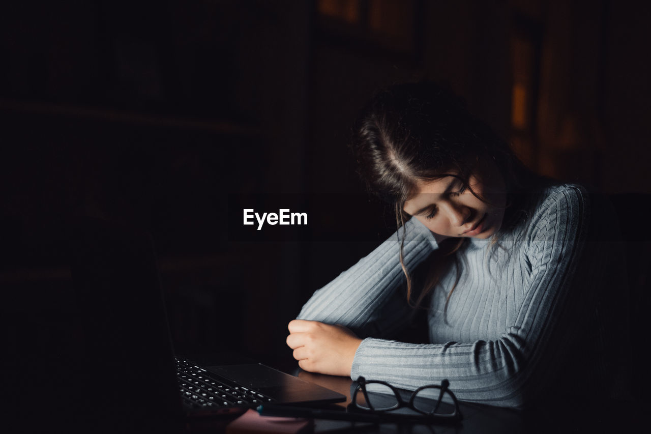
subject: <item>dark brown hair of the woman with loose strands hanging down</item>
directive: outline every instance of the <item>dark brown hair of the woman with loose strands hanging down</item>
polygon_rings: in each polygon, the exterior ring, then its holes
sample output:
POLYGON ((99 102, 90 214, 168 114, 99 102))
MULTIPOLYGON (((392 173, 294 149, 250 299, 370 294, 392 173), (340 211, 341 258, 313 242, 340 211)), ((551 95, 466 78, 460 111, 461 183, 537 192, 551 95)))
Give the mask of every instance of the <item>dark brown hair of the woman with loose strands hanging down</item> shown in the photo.
MULTIPOLYGON (((507 210, 499 233, 513 227, 523 215, 518 212, 523 209, 514 206, 518 197, 544 181, 523 166, 493 130, 473 117, 462 100, 434 83, 393 85, 376 93, 355 123, 351 148, 367 190, 395 206, 398 227, 404 226, 410 217, 404 212, 404 203, 417 191, 418 181, 454 176, 469 188, 467 181, 481 158, 492 159, 505 181, 507 210)), ((493 236, 493 246, 498 244, 499 233, 493 236)), ((444 315, 447 314, 450 296, 461 277, 455 253, 464 242, 465 239, 441 242, 428 259, 422 289, 414 296, 411 274, 404 263, 403 231, 400 265, 411 306, 421 306, 454 261, 456 280, 447 295, 444 315)))

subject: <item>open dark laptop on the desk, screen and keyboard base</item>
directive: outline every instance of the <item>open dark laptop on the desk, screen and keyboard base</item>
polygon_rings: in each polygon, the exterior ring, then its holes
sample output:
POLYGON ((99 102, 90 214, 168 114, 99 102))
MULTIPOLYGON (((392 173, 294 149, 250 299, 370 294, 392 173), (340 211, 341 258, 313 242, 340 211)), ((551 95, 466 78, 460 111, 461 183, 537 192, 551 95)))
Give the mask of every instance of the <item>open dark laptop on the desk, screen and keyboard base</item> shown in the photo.
POLYGON ((95 402, 87 407, 107 417, 154 412, 187 419, 242 413, 263 402, 314 406, 346 400, 264 364, 225 356, 205 366, 174 354, 149 235, 82 218, 70 228, 70 240, 87 366, 77 387, 95 402))

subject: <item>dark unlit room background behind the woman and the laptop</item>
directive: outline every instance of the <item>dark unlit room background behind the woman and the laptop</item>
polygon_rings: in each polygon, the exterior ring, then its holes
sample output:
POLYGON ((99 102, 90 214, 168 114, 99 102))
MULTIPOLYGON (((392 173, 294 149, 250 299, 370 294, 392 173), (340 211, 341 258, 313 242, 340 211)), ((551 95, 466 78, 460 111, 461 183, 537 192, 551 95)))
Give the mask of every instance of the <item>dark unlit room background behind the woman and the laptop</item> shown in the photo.
POLYGON ((376 89, 422 78, 463 96, 534 170, 613 195, 634 244, 631 312, 644 312, 649 22, 648 3, 614 0, 3 5, 10 353, 45 360, 79 344, 62 227, 85 215, 152 233, 178 351, 293 368, 286 323, 395 230, 355 175, 355 113, 376 89), (309 225, 243 232, 249 203, 307 212, 309 225))

